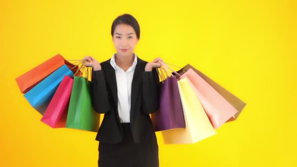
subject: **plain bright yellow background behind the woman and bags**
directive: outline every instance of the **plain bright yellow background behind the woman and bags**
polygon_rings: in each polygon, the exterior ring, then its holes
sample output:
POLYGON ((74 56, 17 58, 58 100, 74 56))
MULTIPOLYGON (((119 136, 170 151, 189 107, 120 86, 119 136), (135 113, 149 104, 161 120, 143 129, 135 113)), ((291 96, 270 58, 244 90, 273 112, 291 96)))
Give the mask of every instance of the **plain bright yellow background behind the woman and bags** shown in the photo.
POLYGON ((191 63, 247 103, 194 145, 164 145, 157 132, 160 167, 297 166, 294 1, 1 0, 0 166, 97 166, 96 133, 43 124, 15 78, 58 53, 109 59, 124 13, 139 21, 140 58, 191 63))

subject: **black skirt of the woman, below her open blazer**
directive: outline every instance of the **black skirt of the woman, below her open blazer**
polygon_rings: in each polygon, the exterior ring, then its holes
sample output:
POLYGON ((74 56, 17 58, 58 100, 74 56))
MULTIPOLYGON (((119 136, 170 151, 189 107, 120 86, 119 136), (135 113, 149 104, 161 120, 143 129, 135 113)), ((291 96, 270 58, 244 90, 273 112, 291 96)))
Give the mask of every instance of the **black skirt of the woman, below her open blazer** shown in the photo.
POLYGON ((98 167, 159 167, 157 142, 136 144, 130 123, 122 123, 124 139, 117 144, 99 142, 98 167))

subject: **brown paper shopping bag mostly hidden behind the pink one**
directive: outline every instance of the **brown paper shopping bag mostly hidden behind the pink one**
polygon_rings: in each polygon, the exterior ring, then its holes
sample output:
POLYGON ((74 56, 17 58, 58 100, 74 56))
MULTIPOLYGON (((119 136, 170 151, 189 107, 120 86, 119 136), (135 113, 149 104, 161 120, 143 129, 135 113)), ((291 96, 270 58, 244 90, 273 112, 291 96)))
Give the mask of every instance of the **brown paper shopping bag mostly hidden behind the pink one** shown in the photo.
MULTIPOLYGON (((169 64, 169 63, 167 63, 169 64)), ((231 92, 226 90, 224 87, 221 85, 217 84, 214 82, 211 78, 203 74, 201 71, 198 69, 194 68, 191 64, 187 64, 186 66, 182 67, 180 70, 176 71, 178 74, 182 75, 189 69, 192 69, 196 74, 198 74, 204 81, 206 81, 208 84, 210 84, 222 97, 224 97, 236 110, 237 112, 227 121, 233 121, 238 118, 240 115, 241 111, 245 107, 246 103, 240 100, 238 97, 233 95, 231 92)), ((175 75, 174 73, 172 73, 175 75)))

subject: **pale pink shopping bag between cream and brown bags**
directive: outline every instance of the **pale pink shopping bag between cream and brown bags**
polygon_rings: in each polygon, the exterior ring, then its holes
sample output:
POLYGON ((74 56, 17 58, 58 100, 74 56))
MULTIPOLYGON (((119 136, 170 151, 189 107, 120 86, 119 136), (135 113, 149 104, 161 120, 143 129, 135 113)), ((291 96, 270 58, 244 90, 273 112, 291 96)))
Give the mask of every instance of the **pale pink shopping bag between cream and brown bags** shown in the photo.
POLYGON ((223 125, 237 112, 226 99, 191 68, 180 78, 188 78, 191 81, 193 89, 214 128, 223 125))

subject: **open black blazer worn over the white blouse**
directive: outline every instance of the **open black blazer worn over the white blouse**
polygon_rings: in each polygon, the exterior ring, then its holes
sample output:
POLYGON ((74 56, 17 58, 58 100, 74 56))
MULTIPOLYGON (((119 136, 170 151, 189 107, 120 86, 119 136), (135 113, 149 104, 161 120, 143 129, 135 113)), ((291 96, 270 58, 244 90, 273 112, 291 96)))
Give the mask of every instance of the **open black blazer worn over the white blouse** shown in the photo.
MULTIPOLYGON (((135 143, 157 142, 149 114, 159 108, 159 77, 155 68, 145 71, 148 62, 137 57, 131 85, 130 128, 135 143)), ((118 93, 115 70, 110 59, 100 63, 102 69, 92 69, 92 103, 96 112, 104 113, 97 141, 115 144, 123 139, 118 114, 118 93)), ((101 117, 102 118, 102 117, 101 117)))

